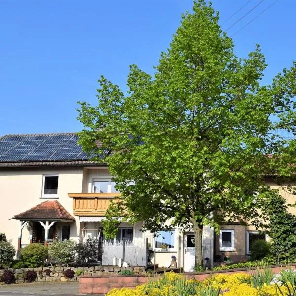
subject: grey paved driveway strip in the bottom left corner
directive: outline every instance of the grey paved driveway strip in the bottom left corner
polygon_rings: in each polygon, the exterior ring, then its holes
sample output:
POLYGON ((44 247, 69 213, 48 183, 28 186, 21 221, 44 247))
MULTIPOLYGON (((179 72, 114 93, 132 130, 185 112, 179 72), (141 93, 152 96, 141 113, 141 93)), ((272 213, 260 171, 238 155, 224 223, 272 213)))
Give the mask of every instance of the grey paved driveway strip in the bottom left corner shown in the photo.
MULTIPOLYGON (((0 285, 1 296, 35 296, 35 295, 71 295, 77 296, 77 282, 37 282, 26 284, 0 285)), ((93 294, 94 295, 94 294, 93 294)))

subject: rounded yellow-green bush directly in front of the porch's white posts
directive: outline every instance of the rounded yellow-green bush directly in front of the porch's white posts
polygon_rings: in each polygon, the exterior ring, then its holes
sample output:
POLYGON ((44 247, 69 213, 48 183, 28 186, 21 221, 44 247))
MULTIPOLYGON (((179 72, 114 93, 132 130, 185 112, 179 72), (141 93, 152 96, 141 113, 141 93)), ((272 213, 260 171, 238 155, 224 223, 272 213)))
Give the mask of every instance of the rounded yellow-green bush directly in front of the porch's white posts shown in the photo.
POLYGON ((30 268, 43 266, 47 249, 41 244, 30 244, 21 250, 24 264, 30 268))

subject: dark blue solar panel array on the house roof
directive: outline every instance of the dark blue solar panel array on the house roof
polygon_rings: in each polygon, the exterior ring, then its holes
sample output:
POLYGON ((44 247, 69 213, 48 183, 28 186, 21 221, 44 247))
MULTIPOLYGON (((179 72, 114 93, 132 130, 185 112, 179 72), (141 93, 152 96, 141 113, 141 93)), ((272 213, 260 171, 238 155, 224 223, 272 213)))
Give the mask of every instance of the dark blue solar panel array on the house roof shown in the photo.
POLYGON ((0 138, 0 162, 89 160, 77 134, 8 135, 0 138))

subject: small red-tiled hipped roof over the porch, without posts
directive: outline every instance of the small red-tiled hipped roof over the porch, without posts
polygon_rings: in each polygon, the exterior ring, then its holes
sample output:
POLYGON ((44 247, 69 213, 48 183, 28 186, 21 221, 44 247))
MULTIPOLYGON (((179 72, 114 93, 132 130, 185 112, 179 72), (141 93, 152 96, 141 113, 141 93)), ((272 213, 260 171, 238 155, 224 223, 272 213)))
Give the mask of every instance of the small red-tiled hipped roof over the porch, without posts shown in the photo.
POLYGON ((57 200, 44 201, 13 218, 18 220, 75 220, 57 200))

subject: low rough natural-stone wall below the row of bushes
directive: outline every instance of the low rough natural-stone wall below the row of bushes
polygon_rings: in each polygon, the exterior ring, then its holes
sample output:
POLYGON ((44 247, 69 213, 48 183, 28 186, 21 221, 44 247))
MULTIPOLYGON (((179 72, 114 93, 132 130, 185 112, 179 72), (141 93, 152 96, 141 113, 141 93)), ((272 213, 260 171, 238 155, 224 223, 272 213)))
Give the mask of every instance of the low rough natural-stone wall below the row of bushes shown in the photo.
MULTIPOLYGON (((145 273, 145 267, 131 266, 131 267, 118 267, 118 266, 93 266, 93 267, 39 267, 39 268, 9 268, 15 275, 16 284, 24 283, 24 274, 27 270, 34 270, 37 272, 36 282, 63 282, 70 281, 75 282, 78 280, 77 270, 82 271, 80 276, 115 276, 119 275, 122 270, 131 270, 135 274, 145 273), (50 269, 50 275, 46 275, 44 272, 46 269, 50 269), (68 279, 64 276, 64 272, 67 269, 72 269, 75 272, 75 276, 72 279, 68 279)), ((3 273, 3 269, 0 270, 0 275, 3 273)), ((1 284, 2 282, 0 282, 1 284)))

